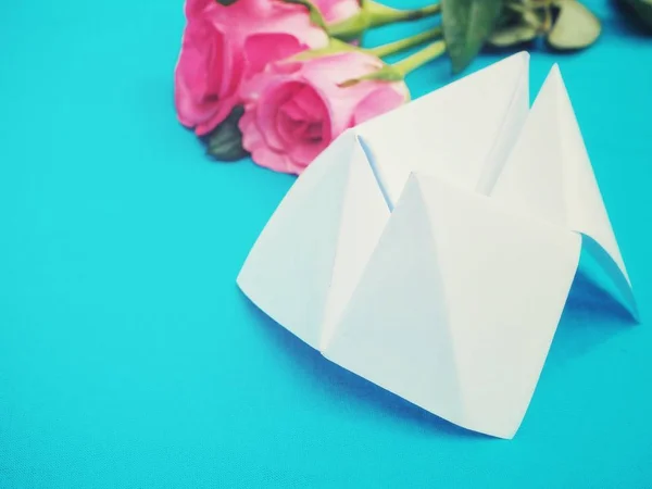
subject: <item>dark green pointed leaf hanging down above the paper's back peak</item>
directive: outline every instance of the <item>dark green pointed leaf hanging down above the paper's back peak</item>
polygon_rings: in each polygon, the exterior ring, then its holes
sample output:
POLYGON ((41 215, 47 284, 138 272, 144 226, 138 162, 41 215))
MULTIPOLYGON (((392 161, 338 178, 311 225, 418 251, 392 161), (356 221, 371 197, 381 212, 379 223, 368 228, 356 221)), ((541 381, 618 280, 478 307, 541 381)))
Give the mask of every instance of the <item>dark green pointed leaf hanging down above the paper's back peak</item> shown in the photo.
POLYGON ((459 73, 480 52, 502 11, 502 0, 441 0, 443 38, 459 73))

